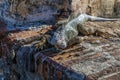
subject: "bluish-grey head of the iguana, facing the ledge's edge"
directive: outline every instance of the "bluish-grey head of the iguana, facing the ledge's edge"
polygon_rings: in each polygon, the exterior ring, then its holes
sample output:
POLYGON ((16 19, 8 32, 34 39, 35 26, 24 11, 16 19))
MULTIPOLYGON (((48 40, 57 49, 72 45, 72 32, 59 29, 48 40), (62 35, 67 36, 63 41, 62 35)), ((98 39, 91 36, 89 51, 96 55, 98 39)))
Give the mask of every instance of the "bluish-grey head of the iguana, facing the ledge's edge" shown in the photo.
POLYGON ((65 35, 64 32, 61 28, 59 28, 56 32, 54 32, 50 43, 57 48, 66 48, 67 47, 67 42, 65 40, 65 35))

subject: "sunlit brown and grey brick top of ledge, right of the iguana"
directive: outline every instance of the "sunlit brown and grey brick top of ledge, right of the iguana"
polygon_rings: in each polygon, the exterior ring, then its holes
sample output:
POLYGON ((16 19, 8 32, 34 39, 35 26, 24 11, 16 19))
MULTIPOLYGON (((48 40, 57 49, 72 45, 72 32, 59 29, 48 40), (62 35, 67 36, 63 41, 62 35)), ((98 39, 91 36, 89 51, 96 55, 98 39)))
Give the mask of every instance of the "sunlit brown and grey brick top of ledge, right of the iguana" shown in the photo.
POLYGON ((119 33, 116 31, 119 22, 113 23, 87 22, 84 26, 97 28, 101 32, 96 34, 99 37, 87 36, 81 44, 52 56, 52 60, 78 73, 85 73, 86 80, 119 80, 120 39, 115 37, 119 33))

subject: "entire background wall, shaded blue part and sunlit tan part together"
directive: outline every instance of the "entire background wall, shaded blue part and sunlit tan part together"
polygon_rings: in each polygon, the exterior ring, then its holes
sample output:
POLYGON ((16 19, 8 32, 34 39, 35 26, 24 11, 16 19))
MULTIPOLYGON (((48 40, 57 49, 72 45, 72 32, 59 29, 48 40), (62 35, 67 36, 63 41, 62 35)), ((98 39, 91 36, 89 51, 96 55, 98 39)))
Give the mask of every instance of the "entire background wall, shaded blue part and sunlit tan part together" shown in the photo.
POLYGON ((57 17, 68 17, 71 11, 74 15, 120 17, 120 0, 0 0, 0 17, 12 24, 54 24, 57 17))

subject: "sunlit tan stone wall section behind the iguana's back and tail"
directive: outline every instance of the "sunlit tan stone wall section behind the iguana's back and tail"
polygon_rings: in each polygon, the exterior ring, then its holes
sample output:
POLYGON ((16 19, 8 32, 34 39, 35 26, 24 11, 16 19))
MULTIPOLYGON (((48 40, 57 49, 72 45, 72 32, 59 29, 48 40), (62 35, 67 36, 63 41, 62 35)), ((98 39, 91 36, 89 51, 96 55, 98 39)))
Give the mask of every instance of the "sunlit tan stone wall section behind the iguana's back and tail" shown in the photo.
POLYGON ((87 13, 93 16, 120 17, 120 0, 74 0, 74 13, 87 13))

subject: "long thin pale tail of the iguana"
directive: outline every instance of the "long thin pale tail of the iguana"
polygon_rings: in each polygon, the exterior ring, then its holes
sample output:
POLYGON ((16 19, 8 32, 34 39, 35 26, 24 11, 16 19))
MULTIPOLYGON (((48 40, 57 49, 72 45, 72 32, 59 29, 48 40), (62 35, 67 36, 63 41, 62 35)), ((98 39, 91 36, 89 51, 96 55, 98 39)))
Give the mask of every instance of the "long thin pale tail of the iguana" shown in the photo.
POLYGON ((90 15, 87 15, 87 17, 88 17, 88 21, 119 21, 120 20, 120 18, 109 19, 109 18, 101 18, 90 15))

